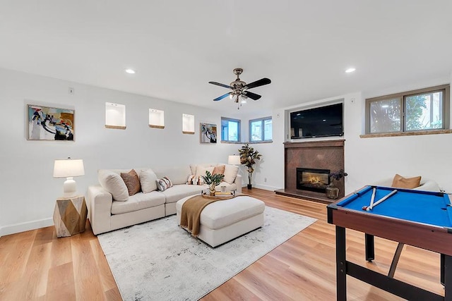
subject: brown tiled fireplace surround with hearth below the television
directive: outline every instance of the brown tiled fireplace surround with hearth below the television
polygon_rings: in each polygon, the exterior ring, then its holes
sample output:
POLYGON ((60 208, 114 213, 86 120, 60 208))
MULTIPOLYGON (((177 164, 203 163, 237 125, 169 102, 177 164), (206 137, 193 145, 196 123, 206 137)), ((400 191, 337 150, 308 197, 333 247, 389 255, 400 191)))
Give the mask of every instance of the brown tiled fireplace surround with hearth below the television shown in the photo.
MULTIPOLYGON (((327 204, 333 202, 334 199, 328 199, 322 192, 297 190, 297 167, 330 169, 331 172, 344 169, 344 144, 345 140, 285 142, 285 188, 276 190, 276 194, 327 204)), ((344 178, 334 180, 334 184, 340 189, 339 197, 343 197, 345 195, 344 178)))

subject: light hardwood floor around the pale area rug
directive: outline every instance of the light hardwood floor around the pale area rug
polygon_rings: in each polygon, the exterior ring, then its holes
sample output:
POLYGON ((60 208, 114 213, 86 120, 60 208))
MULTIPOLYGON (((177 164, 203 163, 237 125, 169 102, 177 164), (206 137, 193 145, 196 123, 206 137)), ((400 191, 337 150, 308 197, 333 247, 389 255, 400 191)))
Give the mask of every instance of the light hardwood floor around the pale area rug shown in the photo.
MULTIPOLYGON (((335 228, 326 205, 252 189, 267 206, 311 216, 304 229, 202 300, 335 300, 335 228)), ((388 229, 388 231, 390 231, 388 229)), ((364 260, 364 234, 347 230, 347 260, 387 274, 396 242, 375 239, 364 260)), ((395 278, 444 295, 439 254, 405 246, 395 278)), ((401 300, 347 277, 348 300, 401 300)), ((54 227, 0 238, 0 300, 121 300, 107 260, 87 223, 84 233, 57 238, 54 227)))

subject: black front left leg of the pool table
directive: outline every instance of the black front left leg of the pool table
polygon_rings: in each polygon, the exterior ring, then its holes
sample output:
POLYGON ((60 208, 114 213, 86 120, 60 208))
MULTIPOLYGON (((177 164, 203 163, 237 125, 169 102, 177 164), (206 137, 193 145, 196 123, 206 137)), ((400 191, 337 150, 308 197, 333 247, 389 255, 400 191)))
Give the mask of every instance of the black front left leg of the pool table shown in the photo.
POLYGON ((347 300, 347 262, 345 259, 345 228, 336 226, 336 298, 347 300))

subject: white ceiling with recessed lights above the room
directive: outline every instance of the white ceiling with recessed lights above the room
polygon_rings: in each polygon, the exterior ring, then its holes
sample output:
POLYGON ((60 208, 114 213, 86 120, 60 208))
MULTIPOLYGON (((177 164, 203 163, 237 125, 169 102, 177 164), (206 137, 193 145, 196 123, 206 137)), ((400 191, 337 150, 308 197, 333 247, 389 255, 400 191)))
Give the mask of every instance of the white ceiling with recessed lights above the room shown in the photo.
POLYGON ((272 80, 240 110, 255 112, 450 78, 451 12, 451 0, 2 0, 0 68, 235 113, 208 81, 239 67, 272 80))

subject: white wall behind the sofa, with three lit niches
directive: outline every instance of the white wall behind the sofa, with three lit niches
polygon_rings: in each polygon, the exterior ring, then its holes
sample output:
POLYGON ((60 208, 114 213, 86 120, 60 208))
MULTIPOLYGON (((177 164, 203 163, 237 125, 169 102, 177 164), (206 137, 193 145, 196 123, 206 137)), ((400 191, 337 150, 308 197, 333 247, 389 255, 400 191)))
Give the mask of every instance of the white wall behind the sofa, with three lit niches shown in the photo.
POLYGON ((53 224, 64 182, 52 178, 54 159, 83 159, 85 176, 75 180, 84 194, 99 168, 227 162, 240 147, 200 144, 199 123, 220 127, 219 111, 4 69, 0 85, 0 235, 53 224), (126 105, 126 130, 105 128, 105 102, 126 105), (26 104, 75 109, 76 141, 28 141, 26 104), (165 129, 148 127, 148 109, 165 111, 165 129), (182 134, 182 113, 195 116, 195 135, 182 134))

